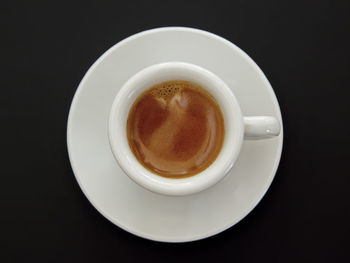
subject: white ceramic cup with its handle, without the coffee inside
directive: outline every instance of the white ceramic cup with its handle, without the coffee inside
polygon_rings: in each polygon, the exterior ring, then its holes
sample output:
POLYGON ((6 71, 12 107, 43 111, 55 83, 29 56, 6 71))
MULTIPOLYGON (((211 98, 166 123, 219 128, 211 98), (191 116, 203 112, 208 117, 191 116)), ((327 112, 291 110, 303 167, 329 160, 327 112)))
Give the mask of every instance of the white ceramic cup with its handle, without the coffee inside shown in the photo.
POLYGON ((182 196, 216 184, 234 165, 244 138, 278 136, 280 124, 271 116, 243 117, 231 89, 212 72, 189 63, 167 62, 139 71, 121 87, 110 111, 108 132, 115 159, 132 180, 155 193, 182 196), (182 179, 161 177, 143 167, 132 153, 126 133, 128 114, 136 98, 154 84, 170 80, 202 86, 216 99, 225 121, 225 139, 216 160, 202 172, 182 179))

